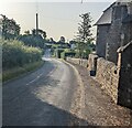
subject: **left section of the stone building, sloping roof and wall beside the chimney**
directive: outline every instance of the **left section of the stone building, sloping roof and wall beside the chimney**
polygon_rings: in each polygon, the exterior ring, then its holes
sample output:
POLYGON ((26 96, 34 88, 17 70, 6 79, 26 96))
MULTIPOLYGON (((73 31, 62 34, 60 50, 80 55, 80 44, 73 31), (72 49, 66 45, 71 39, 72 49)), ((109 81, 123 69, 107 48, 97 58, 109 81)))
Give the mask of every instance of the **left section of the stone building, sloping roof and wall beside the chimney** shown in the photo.
POLYGON ((112 13, 111 4, 108 9, 103 11, 101 18, 97 21, 97 54, 100 57, 106 58, 106 46, 107 46, 107 38, 109 36, 109 30, 111 25, 111 13, 112 13))

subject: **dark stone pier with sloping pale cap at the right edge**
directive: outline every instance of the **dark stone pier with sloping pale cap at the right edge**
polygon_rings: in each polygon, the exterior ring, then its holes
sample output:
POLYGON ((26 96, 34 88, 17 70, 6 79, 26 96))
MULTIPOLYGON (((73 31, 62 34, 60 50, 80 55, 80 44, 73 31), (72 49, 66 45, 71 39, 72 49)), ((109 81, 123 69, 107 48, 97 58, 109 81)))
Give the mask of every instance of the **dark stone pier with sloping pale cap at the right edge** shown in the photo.
POLYGON ((118 104, 132 109, 132 42, 118 50, 118 104))

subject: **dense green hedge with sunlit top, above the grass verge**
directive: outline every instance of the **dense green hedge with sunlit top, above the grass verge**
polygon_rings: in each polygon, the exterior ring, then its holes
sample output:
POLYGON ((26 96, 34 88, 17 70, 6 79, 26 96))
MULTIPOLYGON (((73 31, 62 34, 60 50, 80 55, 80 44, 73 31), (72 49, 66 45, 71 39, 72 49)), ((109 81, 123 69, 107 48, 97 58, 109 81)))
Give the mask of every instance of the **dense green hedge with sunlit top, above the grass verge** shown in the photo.
POLYGON ((2 44, 3 71, 37 62, 42 57, 41 49, 25 46, 22 42, 0 40, 0 43, 2 44))

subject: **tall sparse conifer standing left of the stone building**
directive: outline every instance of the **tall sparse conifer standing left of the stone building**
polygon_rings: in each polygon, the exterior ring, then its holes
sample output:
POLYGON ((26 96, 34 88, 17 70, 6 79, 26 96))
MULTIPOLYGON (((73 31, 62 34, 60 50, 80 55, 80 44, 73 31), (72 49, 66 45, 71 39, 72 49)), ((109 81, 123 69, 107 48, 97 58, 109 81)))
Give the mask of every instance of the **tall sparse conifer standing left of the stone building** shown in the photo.
POLYGON ((81 18, 80 23, 78 23, 78 32, 76 40, 78 42, 77 49, 78 49, 78 54, 79 57, 82 58, 85 55, 84 51, 89 51, 88 50, 88 44, 94 40, 92 34, 91 34, 91 22, 92 19, 89 13, 84 13, 79 15, 81 18))

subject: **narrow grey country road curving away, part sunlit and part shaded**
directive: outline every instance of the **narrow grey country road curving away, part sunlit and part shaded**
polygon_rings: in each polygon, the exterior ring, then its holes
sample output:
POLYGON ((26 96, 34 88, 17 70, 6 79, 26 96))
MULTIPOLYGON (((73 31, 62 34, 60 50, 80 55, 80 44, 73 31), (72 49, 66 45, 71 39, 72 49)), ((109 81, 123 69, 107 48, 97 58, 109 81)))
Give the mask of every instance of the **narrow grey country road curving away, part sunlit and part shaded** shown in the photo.
POLYGON ((40 70, 3 84, 3 126, 63 126, 69 113, 77 81, 74 70, 55 58, 45 58, 40 70))

